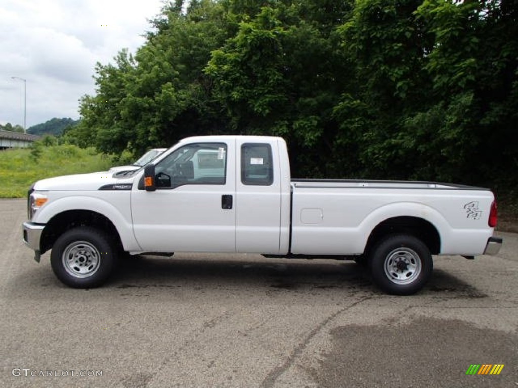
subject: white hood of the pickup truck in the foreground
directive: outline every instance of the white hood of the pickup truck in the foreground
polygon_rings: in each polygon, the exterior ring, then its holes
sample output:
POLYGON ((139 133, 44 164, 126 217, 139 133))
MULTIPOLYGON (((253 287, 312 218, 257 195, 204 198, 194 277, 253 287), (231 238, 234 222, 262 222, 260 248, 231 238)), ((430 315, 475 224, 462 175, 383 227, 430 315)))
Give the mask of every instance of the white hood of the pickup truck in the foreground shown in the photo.
POLYGON ((127 185, 133 184, 134 177, 114 177, 114 173, 93 172, 90 174, 76 174, 56 176, 38 181, 34 184, 35 190, 99 190, 101 187, 112 185, 126 185, 115 187, 116 189, 130 189, 127 185))

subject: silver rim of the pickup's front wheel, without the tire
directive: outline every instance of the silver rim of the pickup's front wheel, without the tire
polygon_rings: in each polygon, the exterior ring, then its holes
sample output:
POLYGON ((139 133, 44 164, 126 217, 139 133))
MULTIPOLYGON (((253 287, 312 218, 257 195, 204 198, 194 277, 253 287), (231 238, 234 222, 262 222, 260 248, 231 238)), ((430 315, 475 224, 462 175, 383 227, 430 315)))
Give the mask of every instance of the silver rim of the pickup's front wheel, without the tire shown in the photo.
POLYGON ((99 269, 100 253, 95 246, 87 241, 76 241, 63 251, 63 267, 74 277, 86 278, 99 269))

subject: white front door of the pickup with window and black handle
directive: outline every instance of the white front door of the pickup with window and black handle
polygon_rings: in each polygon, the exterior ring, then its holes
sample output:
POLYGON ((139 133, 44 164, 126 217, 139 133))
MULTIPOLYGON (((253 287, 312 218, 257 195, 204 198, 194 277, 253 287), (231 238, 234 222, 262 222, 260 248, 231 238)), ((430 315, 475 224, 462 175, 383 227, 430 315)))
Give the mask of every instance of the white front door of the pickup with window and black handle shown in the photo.
POLYGON ((156 163, 156 191, 134 185, 133 228, 143 251, 235 251, 235 155, 234 139, 183 144, 156 163))

